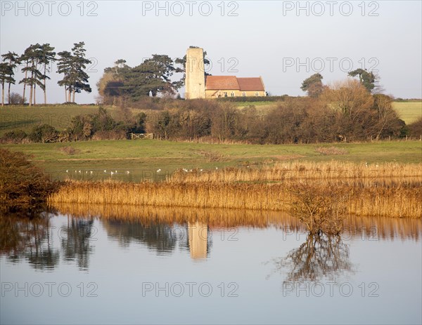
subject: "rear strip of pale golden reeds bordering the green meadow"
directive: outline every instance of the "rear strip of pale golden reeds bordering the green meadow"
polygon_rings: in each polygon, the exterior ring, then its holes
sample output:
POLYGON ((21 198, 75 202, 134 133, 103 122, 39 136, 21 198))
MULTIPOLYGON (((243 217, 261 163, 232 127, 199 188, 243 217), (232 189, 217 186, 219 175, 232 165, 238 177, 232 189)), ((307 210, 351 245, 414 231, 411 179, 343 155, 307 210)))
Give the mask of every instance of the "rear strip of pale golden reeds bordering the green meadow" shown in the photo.
POLYGON ((387 182, 389 179, 406 178, 422 182, 422 164, 353 164, 340 161, 300 162, 290 161, 263 168, 224 168, 212 171, 184 171, 180 169, 169 177, 167 183, 231 183, 231 182, 286 182, 288 180, 359 180, 360 183, 387 182))

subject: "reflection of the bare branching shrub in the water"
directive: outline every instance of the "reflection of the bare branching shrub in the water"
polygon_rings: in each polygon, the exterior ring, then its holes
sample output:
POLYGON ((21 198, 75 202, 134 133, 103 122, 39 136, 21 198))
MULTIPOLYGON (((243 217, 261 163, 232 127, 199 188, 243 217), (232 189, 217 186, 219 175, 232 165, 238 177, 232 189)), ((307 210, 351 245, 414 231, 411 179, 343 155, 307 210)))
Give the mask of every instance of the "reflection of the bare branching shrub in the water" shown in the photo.
POLYGON ((274 260, 276 271, 290 269, 285 282, 319 281, 352 272, 349 247, 340 236, 308 234, 305 243, 274 260))

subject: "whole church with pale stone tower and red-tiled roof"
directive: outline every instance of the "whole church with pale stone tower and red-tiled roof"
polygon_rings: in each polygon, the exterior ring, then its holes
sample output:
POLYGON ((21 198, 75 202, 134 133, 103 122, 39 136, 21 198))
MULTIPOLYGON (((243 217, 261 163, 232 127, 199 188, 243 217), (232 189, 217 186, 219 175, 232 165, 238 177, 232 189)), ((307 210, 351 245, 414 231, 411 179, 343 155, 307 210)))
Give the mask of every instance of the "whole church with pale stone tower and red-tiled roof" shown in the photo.
POLYGON ((186 99, 267 95, 261 77, 205 76, 202 48, 186 51, 185 85, 186 99))

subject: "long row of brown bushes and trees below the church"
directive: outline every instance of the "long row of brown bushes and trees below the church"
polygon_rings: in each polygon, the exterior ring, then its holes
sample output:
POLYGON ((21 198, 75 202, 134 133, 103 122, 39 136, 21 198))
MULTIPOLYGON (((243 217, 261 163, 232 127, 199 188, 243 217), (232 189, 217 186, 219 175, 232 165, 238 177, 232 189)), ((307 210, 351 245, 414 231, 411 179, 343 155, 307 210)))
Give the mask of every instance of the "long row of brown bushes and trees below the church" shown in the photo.
POLYGON ((73 117, 68 128, 36 126, 30 134, 11 131, 3 142, 65 142, 123 139, 128 133, 153 133, 162 140, 203 140, 255 144, 353 142, 419 138, 422 119, 408 126, 392 108, 392 98, 371 94, 357 80, 326 87, 318 98, 283 97, 262 112, 220 100, 144 98, 150 110, 129 110, 122 102, 116 121, 100 107, 73 117), (154 110, 151 110, 154 107, 154 110))

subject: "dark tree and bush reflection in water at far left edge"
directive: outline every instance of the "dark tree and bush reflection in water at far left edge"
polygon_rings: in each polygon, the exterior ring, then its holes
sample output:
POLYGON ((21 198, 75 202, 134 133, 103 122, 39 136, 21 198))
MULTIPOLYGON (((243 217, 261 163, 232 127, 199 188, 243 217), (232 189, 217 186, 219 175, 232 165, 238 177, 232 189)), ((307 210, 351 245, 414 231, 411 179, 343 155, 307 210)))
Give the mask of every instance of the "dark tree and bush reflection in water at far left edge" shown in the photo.
POLYGON ((51 247, 49 218, 0 215, 0 255, 3 254, 13 263, 25 259, 40 270, 56 267, 60 253, 51 247))

